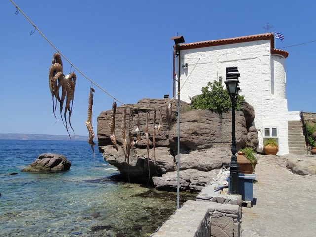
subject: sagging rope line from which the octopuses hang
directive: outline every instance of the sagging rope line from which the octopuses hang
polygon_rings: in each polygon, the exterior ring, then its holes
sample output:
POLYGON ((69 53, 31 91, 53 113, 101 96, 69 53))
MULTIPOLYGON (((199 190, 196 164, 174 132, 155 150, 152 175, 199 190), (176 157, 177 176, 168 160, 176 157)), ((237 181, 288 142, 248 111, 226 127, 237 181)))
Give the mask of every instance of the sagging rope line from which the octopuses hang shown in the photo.
MULTIPOLYGON (((57 53, 59 53, 63 58, 65 58, 65 60, 72 66, 74 67, 84 78, 86 78, 87 80, 89 80, 92 84, 94 84, 95 86, 97 86, 100 90, 102 90, 104 93, 106 93, 107 95, 109 95, 110 97, 112 97, 115 101, 118 101, 119 103, 121 103, 122 105, 128 106, 130 108, 133 109, 141 109, 139 107, 135 107, 135 106, 131 106, 131 105, 127 105, 124 102, 118 100, 117 98, 115 98, 113 95, 111 95, 109 92, 107 92, 106 90, 104 90, 101 86, 99 86, 98 84, 96 84, 95 82, 93 82, 91 79, 89 79, 84 73, 82 73, 74 64, 72 64, 72 62, 70 62, 70 60, 68 60, 68 58, 65 57, 64 54, 62 54, 53 44, 50 40, 47 39, 47 37, 44 36, 44 34, 40 31, 40 29, 27 17, 27 15, 24 14, 24 12, 14 3, 13 0, 10 0, 12 2, 12 4, 16 7, 17 9, 17 13, 16 15, 21 12, 21 14, 32 24, 32 26, 34 26, 35 30, 38 30, 38 32, 40 33, 40 35, 57 51, 57 53)), ((34 33, 34 32, 33 32, 34 33)), ((32 33, 32 34, 33 34, 32 33)), ((162 107, 168 103, 170 103, 173 99, 175 98, 175 96, 173 98, 171 98, 168 102, 166 102, 163 105, 160 106, 156 106, 156 107, 152 107, 152 108, 148 108, 149 110, 151 109, 156 109, 159 107, 162 107)))

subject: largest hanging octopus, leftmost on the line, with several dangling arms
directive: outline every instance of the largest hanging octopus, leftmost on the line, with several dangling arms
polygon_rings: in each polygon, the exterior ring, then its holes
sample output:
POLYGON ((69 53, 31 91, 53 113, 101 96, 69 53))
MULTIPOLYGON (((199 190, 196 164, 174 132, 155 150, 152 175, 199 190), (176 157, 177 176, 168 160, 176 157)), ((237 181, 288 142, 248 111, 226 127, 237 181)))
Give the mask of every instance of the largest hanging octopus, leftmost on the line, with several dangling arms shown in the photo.
POLYGON ((56 118, 56 107, 57 107, 57 100, 58 100, 58 102, 60 103, 60 117, 63 121, 64 126, 66 127, 69 138, 71 138, 68 132, 66 113, 68 111, 69 126, 74 132, 74 129, 70 122, 70 117, 72 113, 74 94, 75 94, 75 86, 76 86, 76 79, 77 79, 76 74, 74 72, 71 72, 68 75, 64 75, 61 56, 59 55, 59 53, 55 53, 53 55, 52 65, 50 66, 48 77, 49 77, 49 88, 50 88, 50 92, 51 92, 52 100, 53 100, 54 116, 56 118), (62 90, 61 97, 59 95, 60 88, 62 90), (63 111, 65 98, 66 98, 66 105, 64 109, 64 119, 65 119, 65 123, 64 123, 64 120, 62 117, 62 111, 63 111), (55 99, 55 102, 54 102, 54 99, 55 99))

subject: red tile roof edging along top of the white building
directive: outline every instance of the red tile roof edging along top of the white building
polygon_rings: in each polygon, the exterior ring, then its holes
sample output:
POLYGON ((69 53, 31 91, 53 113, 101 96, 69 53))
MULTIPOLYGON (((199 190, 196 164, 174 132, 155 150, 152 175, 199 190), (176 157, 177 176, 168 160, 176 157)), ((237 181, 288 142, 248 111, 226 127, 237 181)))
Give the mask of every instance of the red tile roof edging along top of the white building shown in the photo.
POLYGON ((264 34, 258 34, 258 35, 227 38, 227 39, 221 39, 221 40, 202 41, 202 42, 196 42, 196 43, 183 43, 183 44, 179 44, 179 49, 186 50, 186 49, 193 49, 193 48, 205 48, 205 47, 213 47, 213 46, 227 45, 227 44, 234 44, 234 43, 244 43, 244 42, 251 42, 251 41, 258 41, 258 40, 270 40, 271 54, 280 54, 284 56, 284 58, 288 57, 288 52, 279 50, 279 49, 274 49, 274 33, 264 33, 264 34))

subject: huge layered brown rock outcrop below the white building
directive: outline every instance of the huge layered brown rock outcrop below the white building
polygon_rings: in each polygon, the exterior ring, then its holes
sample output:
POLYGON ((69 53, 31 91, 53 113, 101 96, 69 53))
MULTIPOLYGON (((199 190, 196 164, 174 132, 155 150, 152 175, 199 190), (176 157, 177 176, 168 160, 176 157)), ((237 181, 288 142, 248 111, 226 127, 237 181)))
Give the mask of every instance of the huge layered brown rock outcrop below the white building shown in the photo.
MULTIPOLYGON (((177 177, 177 101, 172 101, 171 126, 166 126, 166 107, 169 99, 143 99, 133 106, 132 130, 136 140, 138 112, 142 125, 141 141, 130 152, 129 165, 125 162, 122 149, 122 114, 124 106, 116 110, 116 139, 119 151, 113 148, 110 140, 111 110, 103 111, 98 117, 98 145, 103 158, 120 170, 121 176, 131 181, 147 182, 149 175, 157 187, 174 188, 177 177), (139 108, 139 109, 135 109, 139 108), (159 124, 159 110, 162 111, 163 128, 157 134, 155 154, 153 149, 153 109, 156 112, 156 126, 159 124), (160 109, 159 109, 160 108, 160 109), (146 112, 149 110, 149 155, 146 149, 146 112), (148 161, 149 157, 149 161, 148 161)), ((180 103, 180 172, 181 189, 200 190, 211 180, 224 164, 231 160, 232 115, 231 112, 217 114, 208 110, 189 111, 189 104, 180 103), (212 171, 212 172, 211 172, 212 171)), ((126 106, 128 108, 128 106, 126 106)), ((126 124, 130 110, 127 109, 126 124)), ((247 142, 246 120, 242 111, 235 113, 237 151, 247 142)))

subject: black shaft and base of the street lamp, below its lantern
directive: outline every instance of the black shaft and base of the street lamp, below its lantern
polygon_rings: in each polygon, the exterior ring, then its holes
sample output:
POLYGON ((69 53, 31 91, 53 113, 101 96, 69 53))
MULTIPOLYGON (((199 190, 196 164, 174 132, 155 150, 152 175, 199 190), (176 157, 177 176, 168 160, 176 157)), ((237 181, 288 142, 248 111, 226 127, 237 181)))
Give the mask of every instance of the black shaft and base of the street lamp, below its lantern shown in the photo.
POLYGON ((239 194, 239 174, 236 157, 236 137, 235 137, 235 97, 231 96, 232 99, 232 157, 229 169, 230 178, 230 193, 239 194))

